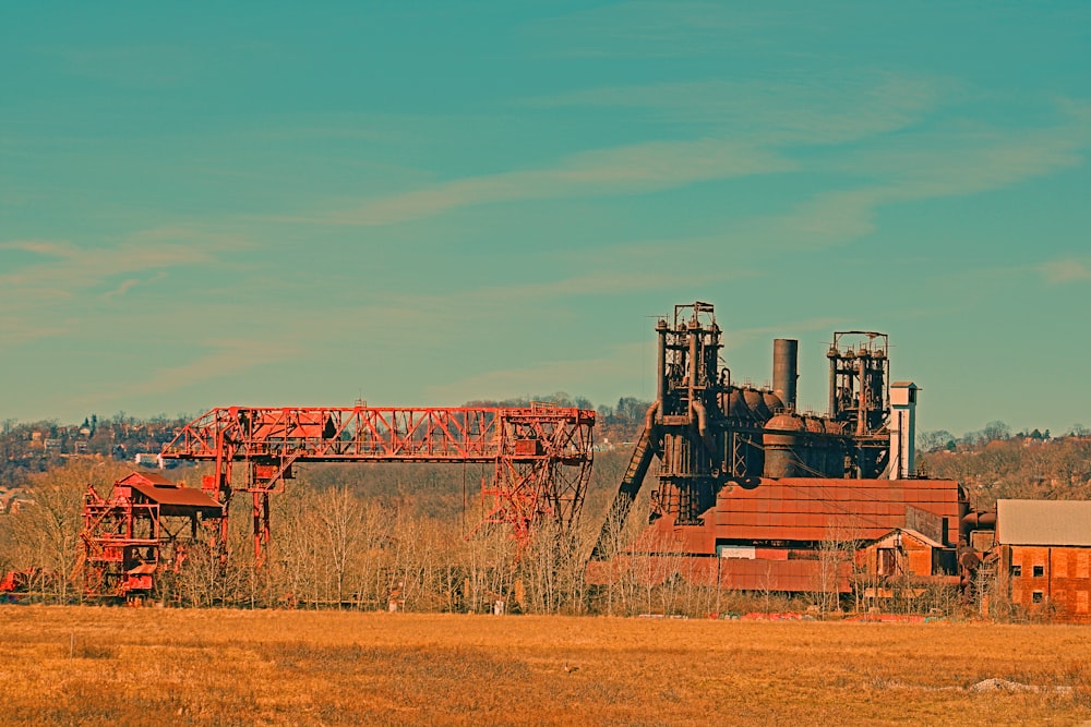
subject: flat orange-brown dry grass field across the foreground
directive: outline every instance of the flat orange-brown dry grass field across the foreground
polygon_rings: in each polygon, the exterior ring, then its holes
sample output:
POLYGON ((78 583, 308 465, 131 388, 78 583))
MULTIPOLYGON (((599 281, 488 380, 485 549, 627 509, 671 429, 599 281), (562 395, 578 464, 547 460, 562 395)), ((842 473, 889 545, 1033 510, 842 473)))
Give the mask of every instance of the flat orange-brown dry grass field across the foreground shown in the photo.
POLYGON ((1088 720, 1079 627, 0 607, 3 724, 1088 720))

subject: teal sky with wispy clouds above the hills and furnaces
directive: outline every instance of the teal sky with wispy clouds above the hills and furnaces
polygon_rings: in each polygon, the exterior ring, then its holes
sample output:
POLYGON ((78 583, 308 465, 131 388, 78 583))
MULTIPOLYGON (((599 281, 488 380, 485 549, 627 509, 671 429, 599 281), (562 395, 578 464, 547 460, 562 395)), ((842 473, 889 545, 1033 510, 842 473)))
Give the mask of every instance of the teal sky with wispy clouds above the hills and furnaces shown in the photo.
POLYGON ((919 429, 1091 424, 1082 1, 4 3, 0 69, 0 419, 650 400, 702 300, 805 407, 867 329, 919 429))

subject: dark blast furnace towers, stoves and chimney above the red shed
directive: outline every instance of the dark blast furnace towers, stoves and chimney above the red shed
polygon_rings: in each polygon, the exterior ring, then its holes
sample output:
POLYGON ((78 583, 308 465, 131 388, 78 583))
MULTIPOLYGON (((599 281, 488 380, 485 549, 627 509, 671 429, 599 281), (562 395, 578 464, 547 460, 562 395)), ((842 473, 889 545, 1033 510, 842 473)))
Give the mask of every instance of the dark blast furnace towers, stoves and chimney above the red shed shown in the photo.
POLYGON ((798 341, 774 344, 774 388, 735 386, 722 365, 722 330, 710 303, 675 305, 660 318, 655 403, 607 512, 592 558, 606 559, 654 460, 658 487, 649 522, 705 524, 728 485, 763 477, 874 480, 890 445, 889 344, 885 334, 840 331, 827 352, 830 412, 796 412, 798 341))

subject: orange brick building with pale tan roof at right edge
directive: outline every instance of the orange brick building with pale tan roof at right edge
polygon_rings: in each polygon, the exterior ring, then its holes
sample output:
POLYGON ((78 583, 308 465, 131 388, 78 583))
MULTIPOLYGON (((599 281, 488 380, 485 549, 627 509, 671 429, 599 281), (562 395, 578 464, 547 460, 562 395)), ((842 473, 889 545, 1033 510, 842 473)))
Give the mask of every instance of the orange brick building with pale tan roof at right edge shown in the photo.
POLYGON ((1002 597, 1091 622, 1091 501, 997 500, 994 557, 1002 597))

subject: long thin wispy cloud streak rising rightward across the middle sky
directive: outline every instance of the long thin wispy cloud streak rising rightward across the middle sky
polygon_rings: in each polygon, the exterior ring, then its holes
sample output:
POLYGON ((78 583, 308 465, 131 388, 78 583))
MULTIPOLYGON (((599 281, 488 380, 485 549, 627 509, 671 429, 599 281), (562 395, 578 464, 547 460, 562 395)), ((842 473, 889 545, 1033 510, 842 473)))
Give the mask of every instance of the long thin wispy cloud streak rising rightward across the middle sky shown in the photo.
POLYGON ((719 138, 647 142, 572 155, 544 169, 468 177, 343 211, 295 221, 380 226, 430 217, 459 207, 517 199, 638 194, 712 179, 790 171, 772 153, 719 138))

